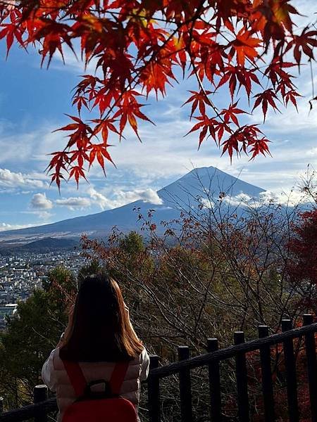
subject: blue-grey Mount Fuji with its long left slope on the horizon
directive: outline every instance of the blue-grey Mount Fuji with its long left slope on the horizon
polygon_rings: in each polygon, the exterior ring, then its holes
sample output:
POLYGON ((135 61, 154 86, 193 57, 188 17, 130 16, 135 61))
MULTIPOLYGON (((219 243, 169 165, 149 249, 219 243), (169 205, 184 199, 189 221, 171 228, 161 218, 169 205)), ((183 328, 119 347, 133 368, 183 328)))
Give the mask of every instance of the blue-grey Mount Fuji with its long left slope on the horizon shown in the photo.
POLYGON ((259 198, 264 189, 230 176, 216 167, 201 167, 185 174, 172 184, 157 191, 160 205, 136 200, 113 210, 97 214, 66 219, 61 222, 45 224, 0 233, 1 243, 28 243, 41 238, 78 238, 81 234, 99 237, 109 234, 113 226, 123 232, 137 230, 139 213, 147 215, 153 209, 154 222, 168 221, 180 216, 180 209, 191 207, 197 196, 219 198, 219 195, 236 197, 244 194, 250 198, 259 198), (137 210, 137 212, 135 212, 137 210))

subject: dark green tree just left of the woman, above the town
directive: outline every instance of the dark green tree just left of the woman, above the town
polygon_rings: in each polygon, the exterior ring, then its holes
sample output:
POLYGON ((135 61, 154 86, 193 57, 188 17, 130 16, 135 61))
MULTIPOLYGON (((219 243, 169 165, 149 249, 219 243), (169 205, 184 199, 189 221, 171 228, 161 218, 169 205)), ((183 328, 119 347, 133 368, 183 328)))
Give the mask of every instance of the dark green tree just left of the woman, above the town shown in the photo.
POLYGON ((32 402, 34 386, 42 383, 44 360, 68 321, 74 283, 67 269, 52 270, 44 289, 36 289, 25 302, 19 302, 6 331, 0 333, 0 391, 8 409, 32 402))

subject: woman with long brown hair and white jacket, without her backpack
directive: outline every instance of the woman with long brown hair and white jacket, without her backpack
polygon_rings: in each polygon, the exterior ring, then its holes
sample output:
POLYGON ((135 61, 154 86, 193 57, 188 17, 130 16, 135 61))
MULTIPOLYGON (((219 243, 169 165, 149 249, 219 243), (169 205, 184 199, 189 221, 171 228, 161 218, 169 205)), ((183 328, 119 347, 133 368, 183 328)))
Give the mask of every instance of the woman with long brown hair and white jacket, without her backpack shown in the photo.
POLYGON ((80 362, 87 383, 109 381, 116 362, 128 362, 120 396, 137 407, 149 356, 132 328, 118 283, 104 274, 82 281, 66 331, 42 368, 44 383, 56 392, 58 421, 78 398, 65 362, 80 362))

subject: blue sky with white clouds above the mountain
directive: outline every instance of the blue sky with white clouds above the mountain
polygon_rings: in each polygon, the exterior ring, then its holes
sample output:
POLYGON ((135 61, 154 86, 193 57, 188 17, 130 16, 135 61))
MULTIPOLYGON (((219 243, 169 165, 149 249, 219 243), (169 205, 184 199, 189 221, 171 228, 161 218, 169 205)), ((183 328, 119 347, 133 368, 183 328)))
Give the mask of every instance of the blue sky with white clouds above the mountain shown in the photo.
MULTIPOLYGON (((315 3, 294 1, 310 17, 317 11, 315 3)), ((304 22, 302 18, 300 25, 304 22)), ((308 68, 297 82, 306 95, 299 101, 299 113, 292 107, 282 115, 268 113, 263 130, 272 141, 273 157, 253 162, 240 158, 232 165, 227 156, 220 158, 211 140, 197 151, 197 136, 183 137, 191 123, 189 108, 180 106, 188 97, 186 90, 193 88, 184 81, 158 103, 149 98, 146 112, 156 127, 140 124, 142 143, 132 132, 126 133, 120 145, 114 142, 111 153, 117 169, 108 165, 105 179, 95 166, 89 184, 82 182, 78 190, 73 183, 64 185, 60 196, 55 186, 49 187, 46 154, 64 145, 63 133, 52 131, 68 121, 63 113, 75 113, 70 91, 83 73, 82 64, 67 54, 66 66, 56 59, 49 70, 40 69, 37 53, 16 47, 8 60, 5 57, 5 45, 0 42, 0 231, 100 212, 139 198, 155 203, 156 190, 193 167, 212 165, 275 193, 297 184, 307 165, 317 168, 317 106, 309 113, 308 68)), ((316 64, 314 72, 317 87, 316 64)), ((220 106, 229 103, 225 95, 220 100, 220 106)), ((261 122, 261 113, 251 120, 261 122)))

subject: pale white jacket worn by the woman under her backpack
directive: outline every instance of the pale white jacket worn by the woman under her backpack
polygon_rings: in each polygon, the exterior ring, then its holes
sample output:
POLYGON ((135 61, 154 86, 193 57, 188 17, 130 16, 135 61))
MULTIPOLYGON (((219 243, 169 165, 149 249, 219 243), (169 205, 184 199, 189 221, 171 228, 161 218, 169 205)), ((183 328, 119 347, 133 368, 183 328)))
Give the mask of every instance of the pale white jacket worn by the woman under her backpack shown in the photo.
MULTIPOLYGON (((113 362, 80 362, 80 368, 87 383, 104 379, 109 381, 115 364, 113 362)), ((125 374, 125 380, 120 395, 130 400, 136 406, 139 404, 140 382, 147 379, 149 373, 149 355, 143 350, 133 359, 125 374)), ((70 383, 63 361, 59 357, 59 347, 52 350, 42 368, 42 379, 52 392, 56 392, 59 409, 58 421, 63 419, 63 413, 77 398, 70 383)))

